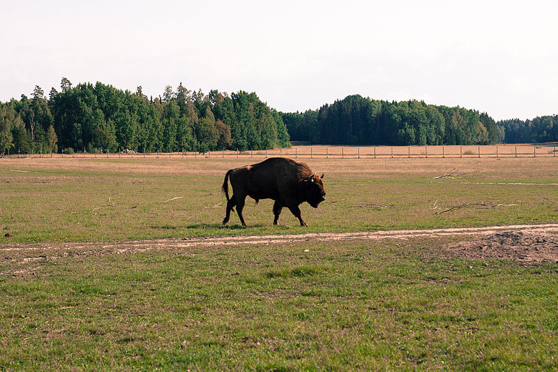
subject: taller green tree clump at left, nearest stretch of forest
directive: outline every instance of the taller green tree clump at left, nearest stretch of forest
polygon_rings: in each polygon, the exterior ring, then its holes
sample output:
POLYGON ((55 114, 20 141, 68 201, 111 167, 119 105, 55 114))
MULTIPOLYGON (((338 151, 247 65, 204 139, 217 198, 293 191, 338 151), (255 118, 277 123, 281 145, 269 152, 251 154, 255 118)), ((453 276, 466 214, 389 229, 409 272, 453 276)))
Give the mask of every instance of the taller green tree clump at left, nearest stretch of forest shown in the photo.
POLYGON ((167 86, 148 98, 97 82, 77 84, 63 78, 61 91, 48 98, 36 86, 0 103, 0 154, 4 151, 213 151, 290 146, 277 110, 246 91, 227 94, 167 86))

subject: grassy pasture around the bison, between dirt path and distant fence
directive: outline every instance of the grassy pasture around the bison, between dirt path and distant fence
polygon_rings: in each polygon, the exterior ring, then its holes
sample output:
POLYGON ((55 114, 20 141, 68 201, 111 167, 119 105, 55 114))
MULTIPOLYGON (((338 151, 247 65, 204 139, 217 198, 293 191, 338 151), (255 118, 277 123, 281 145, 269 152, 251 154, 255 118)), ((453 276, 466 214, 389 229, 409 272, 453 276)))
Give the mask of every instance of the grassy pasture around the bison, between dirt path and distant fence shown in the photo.
POLYGON ((287 209, 274 227, 271 200, 250 198, 249 227, 236 214, 223 227, 225 172, 259 160, 0 159, 0 228, 13 235, 4 242, 507 225, 558 216, 556 158, 305 159, 326 174, 326 202, 301 206, 309 228, 287 209), (451 170, 461 175, 434 178, 451 170))

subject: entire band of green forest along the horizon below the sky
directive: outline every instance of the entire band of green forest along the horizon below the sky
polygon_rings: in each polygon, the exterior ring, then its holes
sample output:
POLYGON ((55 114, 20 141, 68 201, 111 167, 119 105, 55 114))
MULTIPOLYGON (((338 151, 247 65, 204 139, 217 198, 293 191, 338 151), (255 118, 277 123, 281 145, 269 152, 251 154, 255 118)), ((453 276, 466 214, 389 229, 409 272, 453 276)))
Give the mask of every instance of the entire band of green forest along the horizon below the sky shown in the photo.
POLYGON ((255 93, 204 94, 182 84, 147 97, 65 77, 0 103, 0 156, 73 151, 215 151, 312 144, 438 145, 558 141, 558 115, 496 122, 486 113, 423 101, 347 96, 317 110, 278 112, 255 93))

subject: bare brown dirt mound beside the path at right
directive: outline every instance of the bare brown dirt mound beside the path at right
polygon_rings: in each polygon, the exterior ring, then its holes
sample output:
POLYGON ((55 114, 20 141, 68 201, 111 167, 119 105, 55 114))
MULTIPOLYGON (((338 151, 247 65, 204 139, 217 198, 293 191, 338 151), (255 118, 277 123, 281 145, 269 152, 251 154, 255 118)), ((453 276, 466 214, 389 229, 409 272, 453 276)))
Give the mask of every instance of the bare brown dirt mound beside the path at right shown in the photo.
POLYGON ((558 262, 558 235, 548 232, 504 231, 472 241, 442 246, 446 257, 467 260, 558 262))

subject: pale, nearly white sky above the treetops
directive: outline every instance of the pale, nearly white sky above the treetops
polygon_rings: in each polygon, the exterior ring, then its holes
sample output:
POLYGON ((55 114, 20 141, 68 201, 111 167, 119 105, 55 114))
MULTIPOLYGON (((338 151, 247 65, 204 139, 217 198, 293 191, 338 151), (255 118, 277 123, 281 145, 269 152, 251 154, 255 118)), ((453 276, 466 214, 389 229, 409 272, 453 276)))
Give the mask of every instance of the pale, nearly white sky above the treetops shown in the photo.
POLYGON ((255 91, 284 112, 361 94, 558 114, 558 1, 0 0, 0 101, 67 77, 147 96, 255 91))

